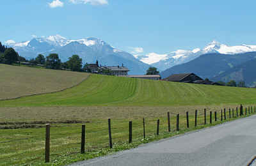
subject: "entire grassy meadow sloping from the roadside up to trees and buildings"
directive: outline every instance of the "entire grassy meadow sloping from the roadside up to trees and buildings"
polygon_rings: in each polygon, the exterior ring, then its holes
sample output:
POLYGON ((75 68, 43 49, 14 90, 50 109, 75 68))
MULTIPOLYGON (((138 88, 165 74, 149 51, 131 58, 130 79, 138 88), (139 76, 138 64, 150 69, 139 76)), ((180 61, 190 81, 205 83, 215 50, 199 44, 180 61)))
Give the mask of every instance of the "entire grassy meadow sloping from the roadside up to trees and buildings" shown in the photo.
POLYGON ((108 155, 220 124, 223 122, 220 110, 224 107, 227 108, 226 121, 237 119, 236 107, 240 103, 248 107, 256 100, 256 89, 252 88, 89 76, 19 66, 3 69, 3 66, 6 65, 0 65, 0 71, 11 69, 0 76, 5 82, 0 84, 10 87, 0 86, 0 98, 24 97, 0 101, 0 165, 66 165, 108 155), (24 73, 30 74, 23 78, 24 73), (19 79, 12 79, 16 77, 19 79), (78 85, 60 91, 58 84, 62 89, 78 85), (42 86, 44 88, 38 90, 42 86), (10 94, 2 93, 8 88, 10 94), (12 89, 19 93, 15 94, 12 89), (26 96, 52 91, 60 92, 26 96), (229 118, 228 108, 234 109, 234 117, 229 118), (204 109, 207 110, 207 125, 204 124, 204 109), (198 110, 196 127, 195 110, 198 110), (189 128, 186 128, 186 111, 189 111, 189 128), (210 111, 218 112, 218 121, 212 119, 212 124, 209 124, 210 111), (172 132, 167 130, 166 112, 171 114, 172 132), (180 114, 180 131, 175 128, 177 114, 180 114), (143 117, 146 139, 143 139, 143 117), (108 148, 108 118, 111 118, 113 149, 108 148), (157 119, 160 119, 160 135, 156 135, 157 119), (128 144, 129 121, 133 128, 132 144, 128 144), (51 163, 44 163, 45 123, 51 123, 51 163), (86 124, 86 153, 83 155, 79 154, 81 124, 86 124))

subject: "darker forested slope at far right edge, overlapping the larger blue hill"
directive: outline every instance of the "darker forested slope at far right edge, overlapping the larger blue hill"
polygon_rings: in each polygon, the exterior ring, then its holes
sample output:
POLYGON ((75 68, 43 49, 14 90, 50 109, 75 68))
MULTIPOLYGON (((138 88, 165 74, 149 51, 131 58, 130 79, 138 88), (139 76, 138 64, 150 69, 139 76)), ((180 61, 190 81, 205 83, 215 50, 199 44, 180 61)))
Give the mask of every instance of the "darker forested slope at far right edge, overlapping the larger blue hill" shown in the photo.
POLYGON ((221 73, 217 77, 213 77, 211 80, 222 80, 223 82, 228 82, 230 80, 236 80, 236 82, 240 82, 241 80, 243 80, 246 83, 246 86, 255 86, 255 65, 256 59, 252 59, 239 66, 235 66, 227 72, 221 73))

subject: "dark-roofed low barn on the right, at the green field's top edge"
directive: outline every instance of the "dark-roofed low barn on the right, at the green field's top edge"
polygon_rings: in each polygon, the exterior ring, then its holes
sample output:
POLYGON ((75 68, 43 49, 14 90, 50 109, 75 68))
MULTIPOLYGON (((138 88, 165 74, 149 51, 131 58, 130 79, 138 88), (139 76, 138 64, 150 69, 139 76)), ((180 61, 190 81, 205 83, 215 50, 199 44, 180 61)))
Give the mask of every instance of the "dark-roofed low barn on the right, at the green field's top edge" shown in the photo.
POLYGON ((167 81, 172 82, 184 82, 184 83, 194 83, 194 84, 205 84, 205 85, 220 85, 217 82, 212 82, 211 80, 204 80, 195 75, 195 73, 180 73, 180 74, 173 74, 167 77, 167 81))

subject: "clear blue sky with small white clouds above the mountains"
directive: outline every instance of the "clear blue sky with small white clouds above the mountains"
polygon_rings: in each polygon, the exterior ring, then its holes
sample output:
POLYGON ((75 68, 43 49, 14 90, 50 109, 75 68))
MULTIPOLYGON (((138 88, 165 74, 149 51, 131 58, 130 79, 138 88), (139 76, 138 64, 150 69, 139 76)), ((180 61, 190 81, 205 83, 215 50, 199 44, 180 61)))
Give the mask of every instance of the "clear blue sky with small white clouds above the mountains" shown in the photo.
POLYGON ((4 0, 0 41, 92 36, 118 49, 158 54, 203 48, 212 40, 254 45, 255 6, 255 0, 4 0))

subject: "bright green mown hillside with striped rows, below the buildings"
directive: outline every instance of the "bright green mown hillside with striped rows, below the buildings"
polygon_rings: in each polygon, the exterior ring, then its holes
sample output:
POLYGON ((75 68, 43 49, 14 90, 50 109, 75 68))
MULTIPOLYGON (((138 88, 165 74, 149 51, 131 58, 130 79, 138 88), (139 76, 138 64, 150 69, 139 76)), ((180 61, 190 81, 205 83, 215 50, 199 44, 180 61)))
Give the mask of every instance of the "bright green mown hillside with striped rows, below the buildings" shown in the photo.
POLYGON ((0 107, 179 106, 255 103, 256 89, 90 75, 58 93, 6 100, 0 107))

